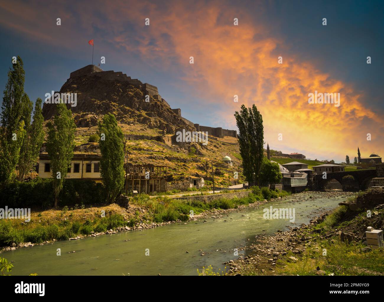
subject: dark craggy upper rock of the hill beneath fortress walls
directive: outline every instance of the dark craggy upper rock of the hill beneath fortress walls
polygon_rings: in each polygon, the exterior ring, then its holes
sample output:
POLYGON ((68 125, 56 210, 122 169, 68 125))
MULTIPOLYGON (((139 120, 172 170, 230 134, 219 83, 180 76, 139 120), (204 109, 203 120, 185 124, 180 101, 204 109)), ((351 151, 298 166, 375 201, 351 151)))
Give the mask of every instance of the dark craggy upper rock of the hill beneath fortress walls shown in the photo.
MULTIPOLYGON (((71 76, 61 87, 60 93, 77 93, 77 104, 67 108, 74 113, 76 126, 96 126, 104 114, 113 113, 119 123, 146 124, 149 128, 165 130, 174 134, 176 128, 193 131, 194 127, 175 114, 166 101, 147 94, 141 82, 121 81, 116 77, 100 77, 97 75, 71 76)), ((45 120, 56 113, 56 104, 43 105, 45 120)))

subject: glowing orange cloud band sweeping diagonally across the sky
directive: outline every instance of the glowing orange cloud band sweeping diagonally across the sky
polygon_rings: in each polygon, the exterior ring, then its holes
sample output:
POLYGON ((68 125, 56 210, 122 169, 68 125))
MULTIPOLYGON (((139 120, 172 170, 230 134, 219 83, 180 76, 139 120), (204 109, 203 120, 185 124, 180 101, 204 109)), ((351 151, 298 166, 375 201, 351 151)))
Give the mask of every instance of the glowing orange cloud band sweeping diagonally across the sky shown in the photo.
MULTIPOLYGON (((153 68, 170 74, 181 70, 185 92, 200 100, 196 106, 217 105, 217 113, 207 113, 219 116, 212 121, 215 126, 233 129, 234 111, 243 103, 255 103, 272 149, 340 160, 346 154, 353 160, 357 146, 363 156, 384 151, 381 117, 364 105, 364 94, 314 63, 289 56, 283 41, 262 24, 254 25, 257 16, 239 14, 238 9, 220 2, 98 2, 88 10, 76 5, 81 18, 71 22, 67 35, 75 26, 91 31, 92 24, 106 33, 103 38, 113 46, 110 51, 136 53, 153 68), (150 26, 144 25, 146 17, 150 26), (234 17, 239 18, 238 26, 233 25, 234 17), (127 22, 132 28, 126 28, 127 22), (283 64, 278 64, 277 47, 283 64), (189 64, 190 56, 194 56, 193 65, 189 64), (341 105, 308 104, 308 94, 315 90, 340 93, 341 105), (234 95, 238 95, 238 103, 233 102, 234 95), (279 133, 282 141, 278 141, 279 133), (367 133, 372 141, 366 140, 367 133)), ((43 25, 39 26, 42 36, 36 37, 45 38, 43 25)), ((23 31, 20 26, 14 29, 23 31)), ((24 32, 28 33, 27 29, 24 32)), ((202 114, 206 114, 204 110, 202 114)))

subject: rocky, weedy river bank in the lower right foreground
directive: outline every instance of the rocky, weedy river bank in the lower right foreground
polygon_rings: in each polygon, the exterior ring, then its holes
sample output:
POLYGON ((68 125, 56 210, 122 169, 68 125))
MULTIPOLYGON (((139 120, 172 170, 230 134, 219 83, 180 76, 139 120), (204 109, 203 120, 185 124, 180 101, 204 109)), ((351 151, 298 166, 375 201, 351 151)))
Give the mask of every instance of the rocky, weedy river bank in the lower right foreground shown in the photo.
MULTIPOLYGON (((336 196, 356 193, 335 192, 336 196)), ((382 229, 384 207, 353 212, 346 206, 319 212, 309 224, 259 234, 247 256, 226 262, 236 275, 384 275, 384 253, 366 246, 367 226, 382 229), (353 238, 353 239, 352 239, 353 238)))

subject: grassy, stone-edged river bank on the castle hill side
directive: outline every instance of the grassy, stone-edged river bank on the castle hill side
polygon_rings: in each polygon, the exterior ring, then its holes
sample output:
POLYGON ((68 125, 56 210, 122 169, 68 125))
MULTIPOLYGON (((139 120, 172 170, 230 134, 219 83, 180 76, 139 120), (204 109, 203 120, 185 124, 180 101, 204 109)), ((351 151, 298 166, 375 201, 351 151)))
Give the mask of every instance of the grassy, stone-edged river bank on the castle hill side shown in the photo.
MULTIPOLYGON (((280 196, 288 195, 285 191, 267 191, 269 200, 273 200, 270 196, 281 198, 280 196)), ((252 191, 233 193, 240 195, 231 199, 225 198, 228 194, 217 194, 216 199, 213 199, 215 196, 210 196, 210 201, 199 201, 196 196, 190 197, 190 201, 169 197, 154 199, 142 194, 131 198, 129 204, 125 206, 109 204, 80 209, 64 207, 60 210, 32 211, 28 223, 20 219, 0 221, 0 243, 9 244, 1 247, 0 252, 36 244, 51 244, 58 240, 79 240, 117 232, 150 229, 182 221, 187 223, 186 221, 208 217, 219 211, 240 211, 248 206, 253 208, 268 202, 263 198, 260 189, 256 193, 259 194, 253 194, 252 191)))

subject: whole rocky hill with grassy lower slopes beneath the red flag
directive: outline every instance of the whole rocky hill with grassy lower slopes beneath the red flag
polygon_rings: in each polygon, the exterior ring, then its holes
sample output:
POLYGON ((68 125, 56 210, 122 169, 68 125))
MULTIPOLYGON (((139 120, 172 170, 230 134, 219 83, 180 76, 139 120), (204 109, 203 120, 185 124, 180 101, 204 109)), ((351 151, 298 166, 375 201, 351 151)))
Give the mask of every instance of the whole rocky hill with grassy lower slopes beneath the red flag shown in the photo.
MULTIPOLYGON (((175 113, 159 95, 155 86, 131 79, 121 72, 102 71, 89 65, 71 73, 60 93, 77 93, 77 104, 72 107, 76 123, 76 145, 81 152, 93 151, 96 144, 89 143, 96 133, 98 121, 106 113, 113 113, 126 138, 126 150, 132 164, 154 164, 168 167, 175 180, 187 176, 206 175, 206 163, 214 164, 215 184, 235 184, 233 172, 240 172, 241 158, 237 138, 214 137, 209 133, 209 143, 183 143, 174 141, 175 131, 194 131, 191 122, 175 113), (149 95, 149 102, 146 102, 149 95), (233 166, 223 163, 230 156, 233 166)), ((43 116, 49 120, 56 112, 55 104, 43 105, 43 116)), ((214 129, 214 128, 213 128, 214 129)), ((210 177, 212 169, 208 170, 210 177)))

